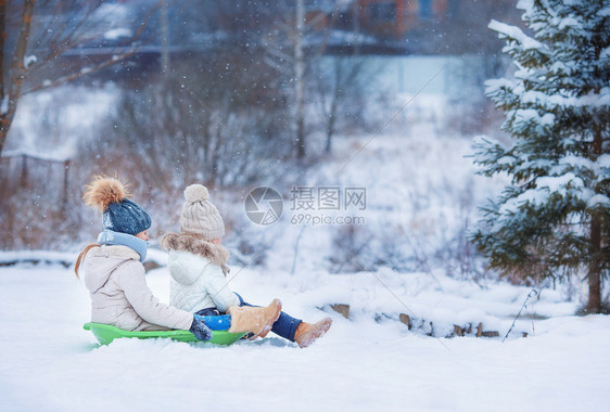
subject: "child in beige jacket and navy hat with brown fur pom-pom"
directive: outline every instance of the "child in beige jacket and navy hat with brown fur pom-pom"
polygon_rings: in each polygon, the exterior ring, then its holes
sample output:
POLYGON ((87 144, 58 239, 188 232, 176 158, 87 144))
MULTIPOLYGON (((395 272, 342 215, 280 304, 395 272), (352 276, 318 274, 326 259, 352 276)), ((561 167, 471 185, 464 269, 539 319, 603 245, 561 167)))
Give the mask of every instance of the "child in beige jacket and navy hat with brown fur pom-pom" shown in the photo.
MULTIPOLYGON (((85 285, 91 296, 91 322, 126 331, 188 330, 200 340, 209 340, 212 331, 206 325, 212 323, 209 319, 160 302, 148 287, 142 262, 149 246, 151 218, 127 197, 123 183, 107 177, 94 178, 85 193, 85 202, 102 211, 104 226, 98 244, 87 246, 75 266, 77 276, 79 269, 85 269, 85 285)), ((262 324, 245 324, 243 330, 233 327, 231 332, 260 332, 277 319, 279 310, 275 309, 259 309, 262 324)), ((239 320, 225 318, 213 323, 216 330, 227 330, 231 321, 239 320)))

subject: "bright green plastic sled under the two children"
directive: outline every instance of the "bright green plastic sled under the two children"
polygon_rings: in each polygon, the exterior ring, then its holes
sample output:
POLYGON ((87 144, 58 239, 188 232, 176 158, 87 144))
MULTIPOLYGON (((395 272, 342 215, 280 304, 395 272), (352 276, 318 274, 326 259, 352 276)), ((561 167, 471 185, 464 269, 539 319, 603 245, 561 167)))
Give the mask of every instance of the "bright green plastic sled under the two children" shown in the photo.
MULTIPOLYGON (((86 331, 91 331, 100 345, 109 345, 120 337, 137 337, 138 339, 150 339, 154 337, 168 337, 179 342, 200 342, 189 331, 124 331, 103 323, 88 322, 82 325, 86 331)), ((213 331, 212 340, 216 345, 231 345, 241 339, 243 333, 230 333, 227 331, 213 331)))

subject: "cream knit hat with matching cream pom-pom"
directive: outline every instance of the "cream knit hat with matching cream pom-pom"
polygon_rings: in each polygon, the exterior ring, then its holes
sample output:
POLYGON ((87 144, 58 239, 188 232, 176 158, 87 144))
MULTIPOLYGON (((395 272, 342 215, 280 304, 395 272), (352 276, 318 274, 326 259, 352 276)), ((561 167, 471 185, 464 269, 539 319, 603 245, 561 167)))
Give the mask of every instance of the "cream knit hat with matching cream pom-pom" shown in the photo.
POLYGON ((180 216, 180 232, 213 241, 225 235, 225 222, 209 201, 207 189, 191 184, 185 190, 185 205, 180 216))

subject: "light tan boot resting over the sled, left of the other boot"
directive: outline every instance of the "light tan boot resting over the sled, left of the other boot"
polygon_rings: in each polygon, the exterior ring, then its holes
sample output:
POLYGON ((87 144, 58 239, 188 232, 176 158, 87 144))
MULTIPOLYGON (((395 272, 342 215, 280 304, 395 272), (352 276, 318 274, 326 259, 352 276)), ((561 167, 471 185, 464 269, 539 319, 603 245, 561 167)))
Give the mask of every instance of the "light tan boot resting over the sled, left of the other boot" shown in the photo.
POLYGON ((281 310, 282 302, 279 299, 274 299, 269 306, 264 308, 231 306, 227 311, 231 316, 229 332, 252 332, 254 335, 268 332, 280 317, 281 310))

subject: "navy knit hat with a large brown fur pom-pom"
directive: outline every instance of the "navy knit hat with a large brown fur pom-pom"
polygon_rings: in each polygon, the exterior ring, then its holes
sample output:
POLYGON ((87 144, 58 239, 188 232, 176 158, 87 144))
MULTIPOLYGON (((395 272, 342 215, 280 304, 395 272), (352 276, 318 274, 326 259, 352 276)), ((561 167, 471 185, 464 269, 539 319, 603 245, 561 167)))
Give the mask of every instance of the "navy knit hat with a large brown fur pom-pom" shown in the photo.
POLYGON ((105 176, 93 178, 85 191, 85 203, 102 211, 104 229, 138 234, 151 227, 151 217, 135 202, 117 179, 105 176))

